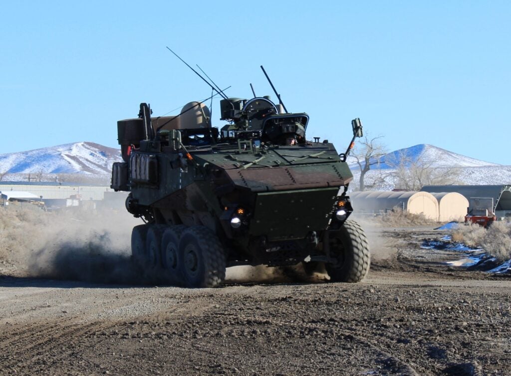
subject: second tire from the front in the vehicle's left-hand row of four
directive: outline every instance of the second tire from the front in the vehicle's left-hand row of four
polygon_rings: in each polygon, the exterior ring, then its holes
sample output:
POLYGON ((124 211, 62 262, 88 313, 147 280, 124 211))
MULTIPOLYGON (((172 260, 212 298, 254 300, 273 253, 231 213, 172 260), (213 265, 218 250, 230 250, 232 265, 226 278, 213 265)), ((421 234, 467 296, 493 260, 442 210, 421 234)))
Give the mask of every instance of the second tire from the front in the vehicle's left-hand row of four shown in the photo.
POLYGON ((161 237, 161 266, 164 269, 162 279, 169 284, 182 281, 179 269, 179 239, 185 229, 187 226, 184 225, 169 226, 161 237))

